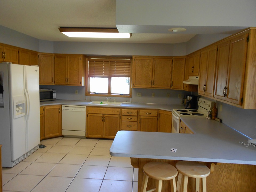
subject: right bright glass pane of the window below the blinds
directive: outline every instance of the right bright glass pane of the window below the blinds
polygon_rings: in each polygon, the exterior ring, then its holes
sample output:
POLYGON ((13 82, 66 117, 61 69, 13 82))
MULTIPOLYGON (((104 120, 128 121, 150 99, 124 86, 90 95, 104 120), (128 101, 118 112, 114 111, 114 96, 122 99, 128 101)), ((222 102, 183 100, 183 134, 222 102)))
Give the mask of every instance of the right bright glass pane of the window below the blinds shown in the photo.
POLYGON ((112 77, 111 94, 129 94, 130 78, 129 77, 112 77))

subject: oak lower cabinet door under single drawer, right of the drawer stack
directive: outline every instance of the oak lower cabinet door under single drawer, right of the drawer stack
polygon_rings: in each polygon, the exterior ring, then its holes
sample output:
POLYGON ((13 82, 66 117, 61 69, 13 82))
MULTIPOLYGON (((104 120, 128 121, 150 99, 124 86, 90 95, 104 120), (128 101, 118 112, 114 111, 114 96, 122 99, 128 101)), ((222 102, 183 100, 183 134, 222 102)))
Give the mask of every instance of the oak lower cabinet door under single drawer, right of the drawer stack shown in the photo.
POLYGON ((139 130, 140 131, 149 131, 157 132, 157 117, 139 117, 139 130))

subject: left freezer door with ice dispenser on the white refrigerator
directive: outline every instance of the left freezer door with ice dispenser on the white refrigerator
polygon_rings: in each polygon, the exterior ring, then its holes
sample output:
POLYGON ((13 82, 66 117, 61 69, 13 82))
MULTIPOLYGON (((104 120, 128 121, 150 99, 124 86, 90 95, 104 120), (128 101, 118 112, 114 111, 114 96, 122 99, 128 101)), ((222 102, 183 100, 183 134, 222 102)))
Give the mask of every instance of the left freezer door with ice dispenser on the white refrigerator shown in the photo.
POLYGON ((15 161, 26 153, 25 116, 15 118, 16 104, 14 103, 14 98, 25 97, 24 88, 24 65, 9 64, 11 161, 15 161))

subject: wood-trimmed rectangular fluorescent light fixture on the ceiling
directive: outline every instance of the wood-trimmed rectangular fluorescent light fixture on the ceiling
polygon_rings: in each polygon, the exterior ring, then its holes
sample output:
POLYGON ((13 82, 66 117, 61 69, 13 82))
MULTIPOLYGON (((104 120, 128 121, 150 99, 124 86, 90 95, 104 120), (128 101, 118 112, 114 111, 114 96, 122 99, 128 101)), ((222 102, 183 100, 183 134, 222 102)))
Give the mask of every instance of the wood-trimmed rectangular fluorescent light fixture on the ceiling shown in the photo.
POLYGON ((130 38, 131 33, 119 33, 117 28, 60 27, 59 31, 68 37, 80 38, 130 38))

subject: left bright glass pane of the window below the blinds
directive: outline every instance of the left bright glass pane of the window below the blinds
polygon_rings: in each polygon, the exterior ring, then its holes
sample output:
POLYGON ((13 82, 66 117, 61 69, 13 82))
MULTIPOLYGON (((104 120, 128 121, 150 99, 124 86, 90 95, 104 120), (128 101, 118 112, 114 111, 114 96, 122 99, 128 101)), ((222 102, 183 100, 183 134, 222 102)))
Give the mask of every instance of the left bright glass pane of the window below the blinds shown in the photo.
POLYGON ((91 93, 107 93, 108 78, 90 77, 91 93))

